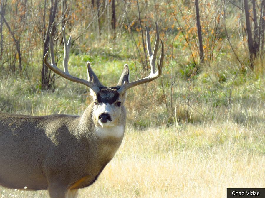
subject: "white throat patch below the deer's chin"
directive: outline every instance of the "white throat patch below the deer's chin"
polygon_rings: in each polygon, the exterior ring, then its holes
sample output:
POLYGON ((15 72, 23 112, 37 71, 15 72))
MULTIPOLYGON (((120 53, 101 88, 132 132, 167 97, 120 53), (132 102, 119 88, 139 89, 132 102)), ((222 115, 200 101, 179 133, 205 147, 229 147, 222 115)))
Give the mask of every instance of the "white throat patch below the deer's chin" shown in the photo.
POLYGON ((124 126, 96 127, 96 134, 102 138, 121 138, 124 134, 124 126))

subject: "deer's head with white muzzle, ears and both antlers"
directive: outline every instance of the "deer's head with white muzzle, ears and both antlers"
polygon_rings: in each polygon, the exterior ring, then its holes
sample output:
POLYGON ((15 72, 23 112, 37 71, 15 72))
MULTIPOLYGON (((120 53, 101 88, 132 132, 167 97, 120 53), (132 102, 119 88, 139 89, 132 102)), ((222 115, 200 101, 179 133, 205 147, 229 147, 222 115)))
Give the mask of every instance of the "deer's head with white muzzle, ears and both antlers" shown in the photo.
MULTIPOLYGON (((110 127, 110 126, 118 126, 119 122, 121 121, 121 111, 124 108, 125 102, 125 95, 127 89, 135 87, 137 85, 150 82, 155 80, 162 74, 162 67, 163 67, 163 58, 164 58, 164 45, 161 39, 159 39, 158 33, 158 25, 156 25, 156 40, 155 40, 155 47, 154 50, 151 50, 150 44, 150 35, 149 31, 146 28, 146 43, 147 43, 147 50, 148 56, 150 60, 150 67, 151 72, 150 75, 135 80, 133 82, 129 82, 129 68, 128 65, 124 65, 124 69, 122 75, 120 77, 119 82, 115 87, 105 87, 103 86, 95 73, 93 72, 92 68, 90 67, 90 62, 87 62, 87 77, 88 80, 80 79, 77 77, 73 77, 68 72, 68 59, 69 59, 69 51, 70 51, 70 42, 71 36, 67 42, 65 37, 65 28, 63 28, 62 35, 63 35, 63 42, 64 42, 64 72, 60 70, 55 64, 54 58, 54 49, 53 49, 53 42, 52 42, 52 32, 50 33, 50 57, 51 63, 47 61, 48 52, 44 56, 44 63, 47 67, 49 67, 52 71, 57 73, 58 75, 80 84, 84 84, 90 88, 90 94, 92 95, 93 101, 93 121, 96 126, 100 127, 110 127), (161 55, 158 65, 158 70, 155 71, 155 60, 156 55, 158 52, 159 47, 159 40, 161 41, 161 55)), ((122 119, 123 120, 123 119, 122 119)))

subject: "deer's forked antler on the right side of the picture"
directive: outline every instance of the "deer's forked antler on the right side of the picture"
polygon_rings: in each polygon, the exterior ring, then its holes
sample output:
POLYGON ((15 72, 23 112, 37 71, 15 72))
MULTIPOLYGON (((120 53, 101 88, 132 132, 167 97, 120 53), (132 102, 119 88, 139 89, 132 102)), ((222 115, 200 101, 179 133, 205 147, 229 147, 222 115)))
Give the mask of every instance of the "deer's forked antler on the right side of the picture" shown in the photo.
POLYGON ((154 48, 153 53, 152 53, 149 31, 148 31, 147 27, 145 27, 147 51, 148 51, 150 65, 151 65, 150 75, 148 77, 145 77, 145 78, 142 78, 139 80, 135 80, 135 81, 130 82, 130 83, 127 83, 125 81, 124 84, 120 87, 120 89, 117 90, 120 94, 123 94, 124 92, 126 92, 127 89, 135 87, 139 84, 143 84, 143 83, 155 80, 162 74, 163 59, 164 59, 164 44, 163 44, 161 39, 160 39, 160 41, 161 41, 161 54, 160 54, 159 63, 157 63, 158 70, 155 72, 155 59, 156 59, 156 54, 157 54, 158 47, 159 47, 159 32, 158 32, 157 23, 155 23, 155 28, 156 28, 156 31, 155 31, 155 35, 156 35, 155 48, 154 48))

